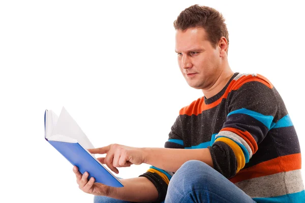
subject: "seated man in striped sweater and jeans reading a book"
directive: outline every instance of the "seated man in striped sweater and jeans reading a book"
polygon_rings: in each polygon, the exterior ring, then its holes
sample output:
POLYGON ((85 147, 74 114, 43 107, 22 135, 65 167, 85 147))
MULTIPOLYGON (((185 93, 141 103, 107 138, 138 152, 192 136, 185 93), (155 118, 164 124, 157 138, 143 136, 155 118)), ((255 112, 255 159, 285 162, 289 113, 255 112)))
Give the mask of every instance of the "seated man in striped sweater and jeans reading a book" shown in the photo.
POLYGON ((165 148, 110 145, 90 149, 116 167, 147 163, 138 178, 114 188, 87 180, 96 202, 301 202, 305 192, 297 134, 284 102, 263 76, 234 73, 228 31, 215 9, 198 5, 174 21, 178 64, 204 96, 180 110, 165 148), (121 200, 119 200, 121 199, 121 200))

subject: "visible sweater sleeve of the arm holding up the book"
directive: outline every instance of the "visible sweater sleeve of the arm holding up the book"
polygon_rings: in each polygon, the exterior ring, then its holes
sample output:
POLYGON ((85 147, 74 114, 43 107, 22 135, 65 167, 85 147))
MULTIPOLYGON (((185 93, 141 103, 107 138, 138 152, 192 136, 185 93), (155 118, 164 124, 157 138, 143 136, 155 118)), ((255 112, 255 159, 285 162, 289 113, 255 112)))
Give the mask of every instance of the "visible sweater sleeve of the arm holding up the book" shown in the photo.
MULTIPOLYGON (((180 136, 181 133, 181 123, 179 116, 171 127, 169 132, 168 141, 165 143, 165 148, 180 148, 184 149, 183 140, 180 136)), ((139 177, 145 177, 151 181, 158 190, 158 199, 156 202, 162 202, 165 199, 167 193, 167 187, 171 177, 174 175, 173 172, 164 171, 161 168, 155 166, 150 166, 149 170, 140 175, 139 177)))

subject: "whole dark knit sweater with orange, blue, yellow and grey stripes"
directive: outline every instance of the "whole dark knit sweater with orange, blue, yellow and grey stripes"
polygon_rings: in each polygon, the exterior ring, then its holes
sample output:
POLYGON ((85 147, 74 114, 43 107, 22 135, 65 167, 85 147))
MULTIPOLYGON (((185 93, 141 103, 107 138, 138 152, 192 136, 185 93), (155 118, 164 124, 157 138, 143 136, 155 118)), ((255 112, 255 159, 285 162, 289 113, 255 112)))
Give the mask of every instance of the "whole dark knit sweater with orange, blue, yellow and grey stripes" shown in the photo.
MULTIPOLYGON (((211 98, 180 110, 166 148, 208 148, 214 168, 257 202, 305 202, 296 131, 275 87, 259 74, 235 73, 211 98)), ((164 200, 173 173, 141 175, 164 200)))

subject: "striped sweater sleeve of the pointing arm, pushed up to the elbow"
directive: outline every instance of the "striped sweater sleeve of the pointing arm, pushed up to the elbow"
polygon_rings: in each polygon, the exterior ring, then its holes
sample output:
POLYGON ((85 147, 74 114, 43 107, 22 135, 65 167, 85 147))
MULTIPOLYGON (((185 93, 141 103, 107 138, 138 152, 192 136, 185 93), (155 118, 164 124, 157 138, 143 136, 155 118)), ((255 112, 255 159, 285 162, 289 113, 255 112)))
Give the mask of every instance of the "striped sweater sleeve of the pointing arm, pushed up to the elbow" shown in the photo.
POLYGON ((228 179, 256 153, 258 144, 275 124, 278 111, 274 87, 263 77, 243 80, 230 91, 226 121, 215 143, 208 147, 215 169, 228 179))

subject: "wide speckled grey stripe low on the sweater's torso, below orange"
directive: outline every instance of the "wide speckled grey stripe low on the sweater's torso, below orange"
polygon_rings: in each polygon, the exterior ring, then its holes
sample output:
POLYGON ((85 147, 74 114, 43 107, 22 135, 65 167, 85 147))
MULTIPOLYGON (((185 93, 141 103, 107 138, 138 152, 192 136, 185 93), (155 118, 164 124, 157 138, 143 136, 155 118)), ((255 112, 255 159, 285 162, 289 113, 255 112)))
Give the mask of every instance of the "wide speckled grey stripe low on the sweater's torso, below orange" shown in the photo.
POLYGON ((301 170, 252 178, 235 185, 252 198, 281 196, 304 190, 301 170))

